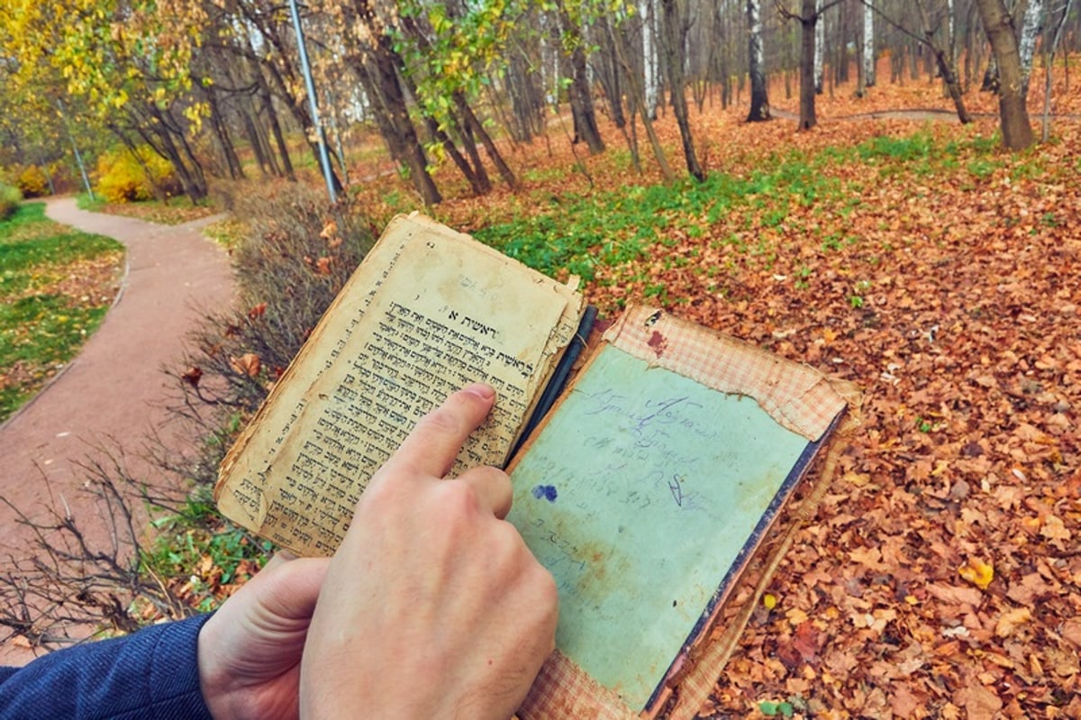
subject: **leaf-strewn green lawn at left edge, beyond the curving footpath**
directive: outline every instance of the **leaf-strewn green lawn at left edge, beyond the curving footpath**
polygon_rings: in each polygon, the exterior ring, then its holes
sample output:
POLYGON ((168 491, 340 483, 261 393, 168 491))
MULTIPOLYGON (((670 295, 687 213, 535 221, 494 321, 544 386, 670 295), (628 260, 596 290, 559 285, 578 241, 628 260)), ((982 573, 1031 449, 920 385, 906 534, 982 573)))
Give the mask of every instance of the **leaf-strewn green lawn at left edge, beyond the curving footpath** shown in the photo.
POLYGON ((0 421, 75 357, 119 290, 123 245, 22 205, 0 222, 0 421))

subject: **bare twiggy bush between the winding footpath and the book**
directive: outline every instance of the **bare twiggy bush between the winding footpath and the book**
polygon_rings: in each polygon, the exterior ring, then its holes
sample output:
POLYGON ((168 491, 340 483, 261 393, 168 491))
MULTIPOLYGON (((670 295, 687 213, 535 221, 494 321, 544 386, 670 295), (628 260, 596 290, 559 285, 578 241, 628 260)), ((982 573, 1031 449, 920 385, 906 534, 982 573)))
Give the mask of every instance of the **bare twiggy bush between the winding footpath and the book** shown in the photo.
MULTIPOLYGON (((175 424, 169 438, 147 442, 158 481, 130 474, 122 451, 83 467, 99 510, 97 521, 108 529, 104 546, 90 539, 99 533, 85 532, 84 521, 93 519, 77 521, 63 498, 53 503, 44 521, 13 508, 36 543, 21 548, 22 557, 9 551, 8 569, 0 573, 0 641, 21 636, 32 648, 48 650, 79 639, 88 628, 128 632, 148 621, 182 617, 193 612, 185 581, 195 576, 183 563, 218 561, 223 552, 230 554, 230 562, 243 563, 237 554, 269 552, 266 544, 217 516, 210 488, 236 434, 299 350, 374 235, 346 204, 330 206, 301 185, 250 190, 226 202, 248 227, 233 252, 238 305, 208 315, 178 368, 166 369, 177 378, 179 395, 169 406, 175 424), (177 443, 177 436, 187 442, 177 443), (181 486, 192 490, 172 490, 181 486), (191 529, 199 529, 196 542, 205 547, 168 554, 175 560, 162 563, 161 541, 144 531, 145 516, 134 509, 139 505, 164 512, 174 539, 183 535, 191 543, 191 529)), ((227 572, 230 579, 236 574, 227 572)), ((223 584, 230 579, 216 575, 223 584)), ((205 605, 206 597, 199 604, 205 605)))

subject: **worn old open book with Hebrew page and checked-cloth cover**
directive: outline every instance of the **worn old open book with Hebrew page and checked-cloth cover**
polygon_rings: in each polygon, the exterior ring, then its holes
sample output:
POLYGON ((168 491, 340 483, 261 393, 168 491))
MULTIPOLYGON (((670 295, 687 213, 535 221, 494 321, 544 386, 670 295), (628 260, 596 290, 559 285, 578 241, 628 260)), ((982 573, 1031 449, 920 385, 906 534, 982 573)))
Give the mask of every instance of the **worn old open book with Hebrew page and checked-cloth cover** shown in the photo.
POLYGON ((508 467, 508 520, 560 589, 521 717, 656 716, 845 402, 817 371, 662 310, 603 333, 589 318, 574 283, 396 218, 226 456, 218 506, 329 555, 417 418, 486 382, 495 410, 452 474, 508 467))

